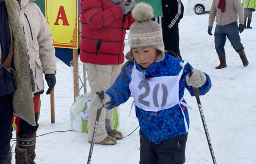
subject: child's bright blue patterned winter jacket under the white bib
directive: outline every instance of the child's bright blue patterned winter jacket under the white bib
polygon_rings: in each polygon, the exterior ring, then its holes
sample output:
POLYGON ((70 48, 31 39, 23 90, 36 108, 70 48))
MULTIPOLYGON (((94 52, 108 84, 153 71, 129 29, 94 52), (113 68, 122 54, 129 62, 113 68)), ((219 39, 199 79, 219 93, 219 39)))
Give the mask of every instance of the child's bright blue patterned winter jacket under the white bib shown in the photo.
MULTIPOLYGON (((144 71, 145 80, 152 77, 161 76, 176 76, 181 71, 182 67, 180 62, 184 62, 180 59, 176 59, 171 55, 166 54, 165 58, 160 62, 153 63, 149 68, 143 69, 136 64, 136 69, 140 72, 144 71)), ((131 74, 134 62, 130 62, 123 71, 123 76, 119 74, 113 86, 107 89, 106 94, 111 97, 111 104, 107 109, 117 107, 118 105, 125 103, 131 95, 129 90, 129 83, 131 82, 131 74)), ((191 67, 191 69, 193 69, 191 67)), ((198 88, 199 94, 204 95, 211 88, 210 77, 206 75, 206 82, 202 87, 198 88)), ((179 99, 184 95, 184 90, 187 88, 191 96, 194 96, 192 87, 187 85, 187 65, 183 70, 179 82, 179 99)), ((183 100, 186 103, 185 100, 183 100)), ((189 117, 187 107, 181 105, 181 108, 187 119, 189 126, 189 117)), ((140 130, 146 138, 152 143, 160 144, 162 141, 173 138, 177 135, 186 134, 184 118, 179 105, 172 108, 161 110, 159 112, 148 112, 136 106, 136 116, 139 120, 140 130)))

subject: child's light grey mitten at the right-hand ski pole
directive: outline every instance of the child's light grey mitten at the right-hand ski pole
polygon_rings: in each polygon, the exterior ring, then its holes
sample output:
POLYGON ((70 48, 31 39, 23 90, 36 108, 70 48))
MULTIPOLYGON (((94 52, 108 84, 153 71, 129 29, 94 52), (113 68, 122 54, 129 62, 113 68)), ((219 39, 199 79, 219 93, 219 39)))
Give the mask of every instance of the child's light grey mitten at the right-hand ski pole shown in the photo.
POLYGON ((206 76, 202 71, 193 69, 191 77, 187 75, 186 81, 187 85, 198 88, 202 87, 203 84, 206 82, 206 76))

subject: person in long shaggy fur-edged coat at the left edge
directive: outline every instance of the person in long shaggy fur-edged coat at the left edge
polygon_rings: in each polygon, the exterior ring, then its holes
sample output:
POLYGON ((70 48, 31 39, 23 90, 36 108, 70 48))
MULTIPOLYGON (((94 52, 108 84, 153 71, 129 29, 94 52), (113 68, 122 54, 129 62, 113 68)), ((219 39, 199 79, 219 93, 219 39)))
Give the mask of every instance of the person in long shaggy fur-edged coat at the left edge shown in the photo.
POLYGON ((36 125, 20 7, 0 0, 0 164, 11 164, 12 116, 36 125))

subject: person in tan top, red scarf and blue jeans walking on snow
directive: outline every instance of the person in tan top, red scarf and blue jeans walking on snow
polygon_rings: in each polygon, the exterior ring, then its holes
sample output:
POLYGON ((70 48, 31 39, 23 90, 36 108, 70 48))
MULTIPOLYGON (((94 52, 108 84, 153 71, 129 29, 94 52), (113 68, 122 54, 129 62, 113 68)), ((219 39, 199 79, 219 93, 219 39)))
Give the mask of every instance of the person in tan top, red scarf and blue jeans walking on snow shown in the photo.
POLYGON ((212 28, 215 17, 217 25, 214 32, 214 43, 220 61, 219 66, 215 68, 222 69, 227 67, 224 49, 227 38, 239 54, 243 66, 248 66, 249 62, 245 56, 244 46, 239 36, 239 32, 241 33, 245 29, 244 10, 240 0, 213 0, 208 24, 208 34, 210 36, 213 35, 212 28), (239 26, 237 25, 238 18, 239 26))

